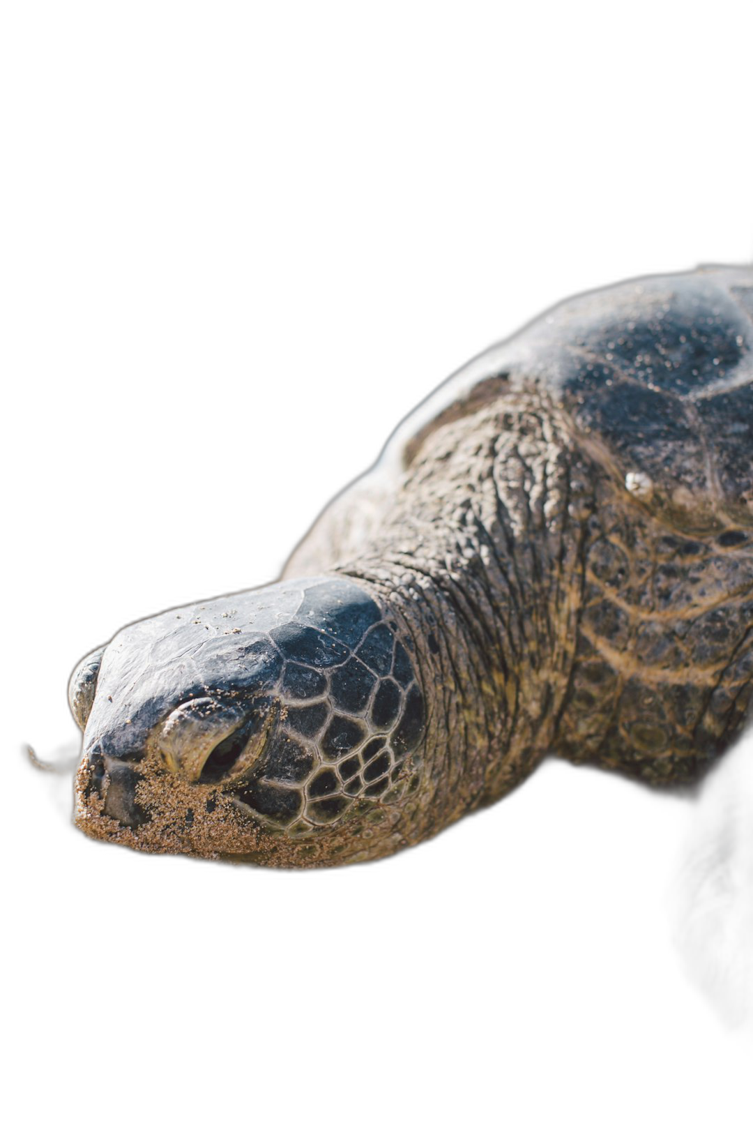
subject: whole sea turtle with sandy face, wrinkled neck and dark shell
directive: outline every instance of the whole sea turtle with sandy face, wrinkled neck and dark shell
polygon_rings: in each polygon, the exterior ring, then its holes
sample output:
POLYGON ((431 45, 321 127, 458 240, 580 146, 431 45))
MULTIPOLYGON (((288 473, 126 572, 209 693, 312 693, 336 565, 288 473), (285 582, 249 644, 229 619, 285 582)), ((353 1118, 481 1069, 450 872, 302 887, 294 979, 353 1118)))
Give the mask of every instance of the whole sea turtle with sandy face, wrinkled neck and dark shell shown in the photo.
POLYGON ((753 727, 753 273, 555 306, 415 409, 282 579, 70 683, 75 826, 280 869, 379 859, 548 758, 693 798, 753 727))

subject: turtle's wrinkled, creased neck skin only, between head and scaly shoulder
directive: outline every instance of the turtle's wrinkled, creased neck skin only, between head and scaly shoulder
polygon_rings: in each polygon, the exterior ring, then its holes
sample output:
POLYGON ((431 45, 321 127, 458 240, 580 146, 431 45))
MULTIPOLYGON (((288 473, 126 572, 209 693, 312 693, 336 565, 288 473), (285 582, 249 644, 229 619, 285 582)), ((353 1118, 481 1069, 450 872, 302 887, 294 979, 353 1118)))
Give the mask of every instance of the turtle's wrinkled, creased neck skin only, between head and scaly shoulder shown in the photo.
POLYGON ((497 405, 430 436, 370 530, 359 494, 391 487, 378 471, 356 484, 284 574, 334 557, 406 627, 427 703, 420 789, 396 822, 411 843, 544 760, 572 670, 593 486, 551 406, 518 400, 499 420, 497 405))

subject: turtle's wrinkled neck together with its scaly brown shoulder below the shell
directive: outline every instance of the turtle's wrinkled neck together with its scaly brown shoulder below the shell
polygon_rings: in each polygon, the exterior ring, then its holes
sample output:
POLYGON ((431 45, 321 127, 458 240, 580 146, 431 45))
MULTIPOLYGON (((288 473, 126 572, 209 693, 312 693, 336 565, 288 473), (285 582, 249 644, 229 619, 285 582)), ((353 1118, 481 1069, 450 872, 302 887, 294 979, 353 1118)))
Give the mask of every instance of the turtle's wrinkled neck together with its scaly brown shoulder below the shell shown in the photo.
POLYGON ((312 557, 374 585, 414 638, 419 837, 546 758, 697 799, 753 724, 748 528, 631 492, 540 391, 474 406, 408 469, 353 484, 287 575, 312 557))

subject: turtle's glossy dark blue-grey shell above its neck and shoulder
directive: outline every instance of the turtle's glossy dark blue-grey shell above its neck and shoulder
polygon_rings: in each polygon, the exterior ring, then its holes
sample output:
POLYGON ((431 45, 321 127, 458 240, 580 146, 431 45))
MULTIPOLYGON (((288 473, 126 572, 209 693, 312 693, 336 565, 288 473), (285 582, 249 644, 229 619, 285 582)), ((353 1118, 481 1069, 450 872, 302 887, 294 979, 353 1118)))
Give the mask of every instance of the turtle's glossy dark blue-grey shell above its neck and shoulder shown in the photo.
POLYGON ((385 450, 483 400, 539 385, 624 488, 697 533, 753 524, 753 272, 702 268, 579 295, 488 350, 385 450))

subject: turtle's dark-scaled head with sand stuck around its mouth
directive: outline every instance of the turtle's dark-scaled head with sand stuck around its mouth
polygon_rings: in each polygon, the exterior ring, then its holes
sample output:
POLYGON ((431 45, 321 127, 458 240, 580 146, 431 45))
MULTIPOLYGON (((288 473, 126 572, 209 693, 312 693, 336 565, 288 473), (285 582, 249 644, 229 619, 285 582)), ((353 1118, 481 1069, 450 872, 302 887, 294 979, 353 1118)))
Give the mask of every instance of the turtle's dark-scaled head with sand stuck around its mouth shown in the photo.
POLYGON ((131 625, 71 678, 75 825, 256 867, 373 858, 375 825, 388 831, 418 786, 415 668, 406 632, 343 576, 131 625))

